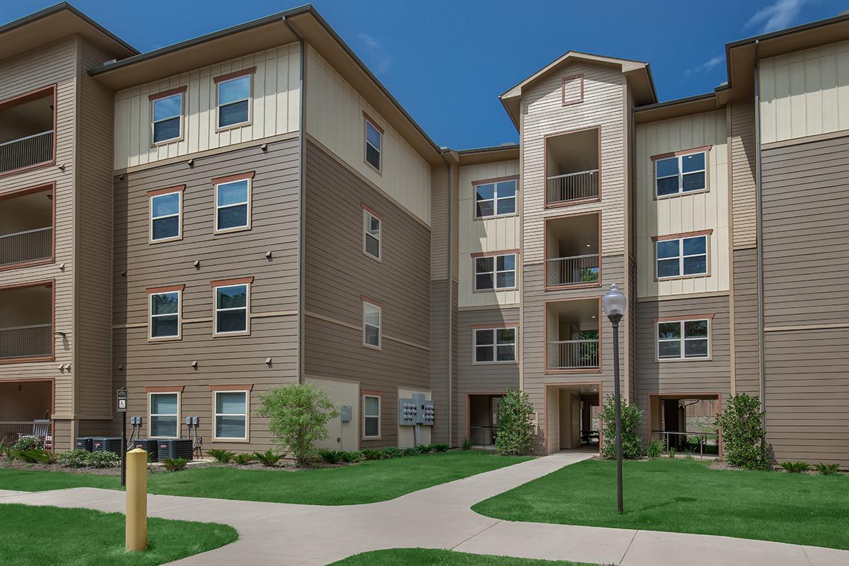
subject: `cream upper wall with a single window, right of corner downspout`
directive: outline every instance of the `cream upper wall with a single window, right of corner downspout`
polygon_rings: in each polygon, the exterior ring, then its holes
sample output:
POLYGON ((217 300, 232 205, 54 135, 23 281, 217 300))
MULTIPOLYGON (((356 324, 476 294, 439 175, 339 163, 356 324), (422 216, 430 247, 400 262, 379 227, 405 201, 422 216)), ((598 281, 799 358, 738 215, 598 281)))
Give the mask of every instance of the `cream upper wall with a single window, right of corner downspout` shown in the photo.
POLYGON ((430 224, 430 165, 314 49, 306 58, 306 131, 390 199, 430 224), (365 162, 367 113, 384 128, 381 170, 365 162))

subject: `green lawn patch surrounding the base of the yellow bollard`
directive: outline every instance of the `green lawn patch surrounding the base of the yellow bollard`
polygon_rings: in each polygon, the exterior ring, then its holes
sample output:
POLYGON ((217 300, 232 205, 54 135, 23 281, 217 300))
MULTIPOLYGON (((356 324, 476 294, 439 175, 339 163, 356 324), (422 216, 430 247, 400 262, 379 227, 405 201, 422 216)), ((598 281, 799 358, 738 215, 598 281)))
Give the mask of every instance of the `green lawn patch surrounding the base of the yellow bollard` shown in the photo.
POLYGON ((124 550, 124 515, 90 509, 0 505, 0 562, 16 566, 154 566, 239 538, 225 524, 148 519, 149 548, 124 550))

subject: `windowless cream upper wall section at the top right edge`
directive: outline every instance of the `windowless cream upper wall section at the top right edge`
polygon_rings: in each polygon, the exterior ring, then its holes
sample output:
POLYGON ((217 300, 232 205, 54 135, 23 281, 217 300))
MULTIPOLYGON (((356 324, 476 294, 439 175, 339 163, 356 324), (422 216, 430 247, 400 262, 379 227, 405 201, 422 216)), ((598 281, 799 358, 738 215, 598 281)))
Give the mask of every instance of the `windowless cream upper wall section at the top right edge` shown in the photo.
POLYGON ((849 41, 763 59, 761 143, 849 130, 849 41))

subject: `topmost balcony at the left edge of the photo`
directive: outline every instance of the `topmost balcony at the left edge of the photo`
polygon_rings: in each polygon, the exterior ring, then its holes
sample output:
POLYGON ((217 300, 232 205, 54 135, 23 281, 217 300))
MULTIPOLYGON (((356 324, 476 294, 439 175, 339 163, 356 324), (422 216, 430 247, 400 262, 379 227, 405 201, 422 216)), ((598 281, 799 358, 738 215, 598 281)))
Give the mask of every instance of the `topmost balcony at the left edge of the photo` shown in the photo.
POLYGON ((53 161, 53 87, 0 103, 0 174, 53 161))

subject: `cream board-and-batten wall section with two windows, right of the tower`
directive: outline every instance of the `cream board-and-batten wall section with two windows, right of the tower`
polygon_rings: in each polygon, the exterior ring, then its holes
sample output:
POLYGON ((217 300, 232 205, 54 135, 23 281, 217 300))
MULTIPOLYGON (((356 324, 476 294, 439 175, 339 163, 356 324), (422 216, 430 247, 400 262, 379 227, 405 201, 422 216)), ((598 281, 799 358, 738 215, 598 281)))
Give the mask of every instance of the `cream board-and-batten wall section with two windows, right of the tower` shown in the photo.
POLYGON ((725 112, 662 120, 637 126, 638 295, 715 293, 730 286, 728 222, 728 143, 725 112), (708 190, 655 198, 653 155, 711 146, 708 190), (712 230, 708 277, 655 280, 654 236, 712 230))

